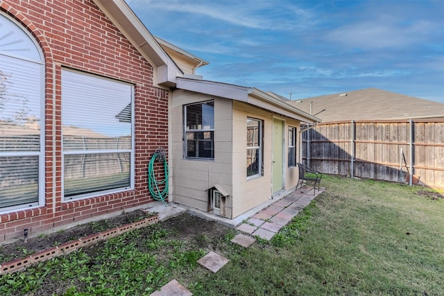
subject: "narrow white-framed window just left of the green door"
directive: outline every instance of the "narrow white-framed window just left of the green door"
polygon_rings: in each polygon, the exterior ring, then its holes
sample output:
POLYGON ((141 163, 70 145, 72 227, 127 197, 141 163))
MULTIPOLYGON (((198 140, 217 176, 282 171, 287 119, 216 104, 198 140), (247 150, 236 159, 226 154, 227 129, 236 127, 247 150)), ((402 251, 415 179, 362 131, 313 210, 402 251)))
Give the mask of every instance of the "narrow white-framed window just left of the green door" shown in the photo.
POLYGON ((262 121, 247 118, 247 177, 262 175, 262 121))

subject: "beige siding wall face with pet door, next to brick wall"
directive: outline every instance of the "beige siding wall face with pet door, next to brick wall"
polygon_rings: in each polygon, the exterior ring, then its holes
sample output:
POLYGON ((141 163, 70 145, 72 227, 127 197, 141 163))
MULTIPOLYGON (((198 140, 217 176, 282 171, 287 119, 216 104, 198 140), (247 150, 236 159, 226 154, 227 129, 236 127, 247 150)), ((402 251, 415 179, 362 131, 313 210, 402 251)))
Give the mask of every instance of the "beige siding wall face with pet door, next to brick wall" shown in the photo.
POLYGON ((220 184, 230 193, 225 216, 232 218, 232 101, 183 90, 171 99, 172 199, 180 204, 207 210, 207 189, 220 184), (183 105, 214 100, 214 160, 183 157, 183 105))

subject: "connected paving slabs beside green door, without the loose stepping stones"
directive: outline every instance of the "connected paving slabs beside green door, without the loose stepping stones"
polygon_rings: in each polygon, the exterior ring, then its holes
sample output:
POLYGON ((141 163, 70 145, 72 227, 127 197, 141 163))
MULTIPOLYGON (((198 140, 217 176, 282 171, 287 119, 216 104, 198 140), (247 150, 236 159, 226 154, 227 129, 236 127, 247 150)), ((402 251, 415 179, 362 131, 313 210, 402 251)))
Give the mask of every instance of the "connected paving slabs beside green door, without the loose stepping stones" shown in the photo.
POLYGON ((299 211, 323 193, 325 189, 316 190, 313 194, 312 187, 302 187, 287 195, 285 198, 271 204, 266 209, 259 211, 255 216, 248 218, 236 229, 251 236, 259 236, 267 241, 271 240, 279 230, 287 225, 299 211))

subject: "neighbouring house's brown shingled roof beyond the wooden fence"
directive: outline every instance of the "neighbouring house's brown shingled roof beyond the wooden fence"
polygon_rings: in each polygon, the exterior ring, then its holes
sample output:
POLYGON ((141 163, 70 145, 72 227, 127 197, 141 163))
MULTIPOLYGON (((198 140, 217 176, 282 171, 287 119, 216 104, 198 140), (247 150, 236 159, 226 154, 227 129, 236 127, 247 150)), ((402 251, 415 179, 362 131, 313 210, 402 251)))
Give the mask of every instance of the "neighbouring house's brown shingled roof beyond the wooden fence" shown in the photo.
POLYGON ((316 96, 287 103, 325 122, 350 120, 420 119, 444 116, 444 104, 369 88, 316 96), (325 111, 323 111, 325 110, 325 111))

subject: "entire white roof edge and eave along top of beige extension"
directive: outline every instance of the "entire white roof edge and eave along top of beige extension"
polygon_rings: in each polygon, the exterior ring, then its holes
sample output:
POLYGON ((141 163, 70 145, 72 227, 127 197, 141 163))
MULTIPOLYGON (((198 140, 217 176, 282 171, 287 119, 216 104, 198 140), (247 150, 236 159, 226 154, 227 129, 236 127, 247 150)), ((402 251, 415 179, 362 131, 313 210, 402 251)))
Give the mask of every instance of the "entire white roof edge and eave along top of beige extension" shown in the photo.
POLYGON ((260 107, 264 110, 276 112, 292 119, 297 119, 305 123, 314 124, 320 119, 303 112, 292 105, 285 103, 276 96, 271 96, 255 87, 242 87, 239 85, 230 85, 222 82, 209 80, 196 80, 189 78, 177 78, 178 89, 185 89, 191 92, 220 96, 221 98, 230 98, 231 100, 241 101, 260 107))

